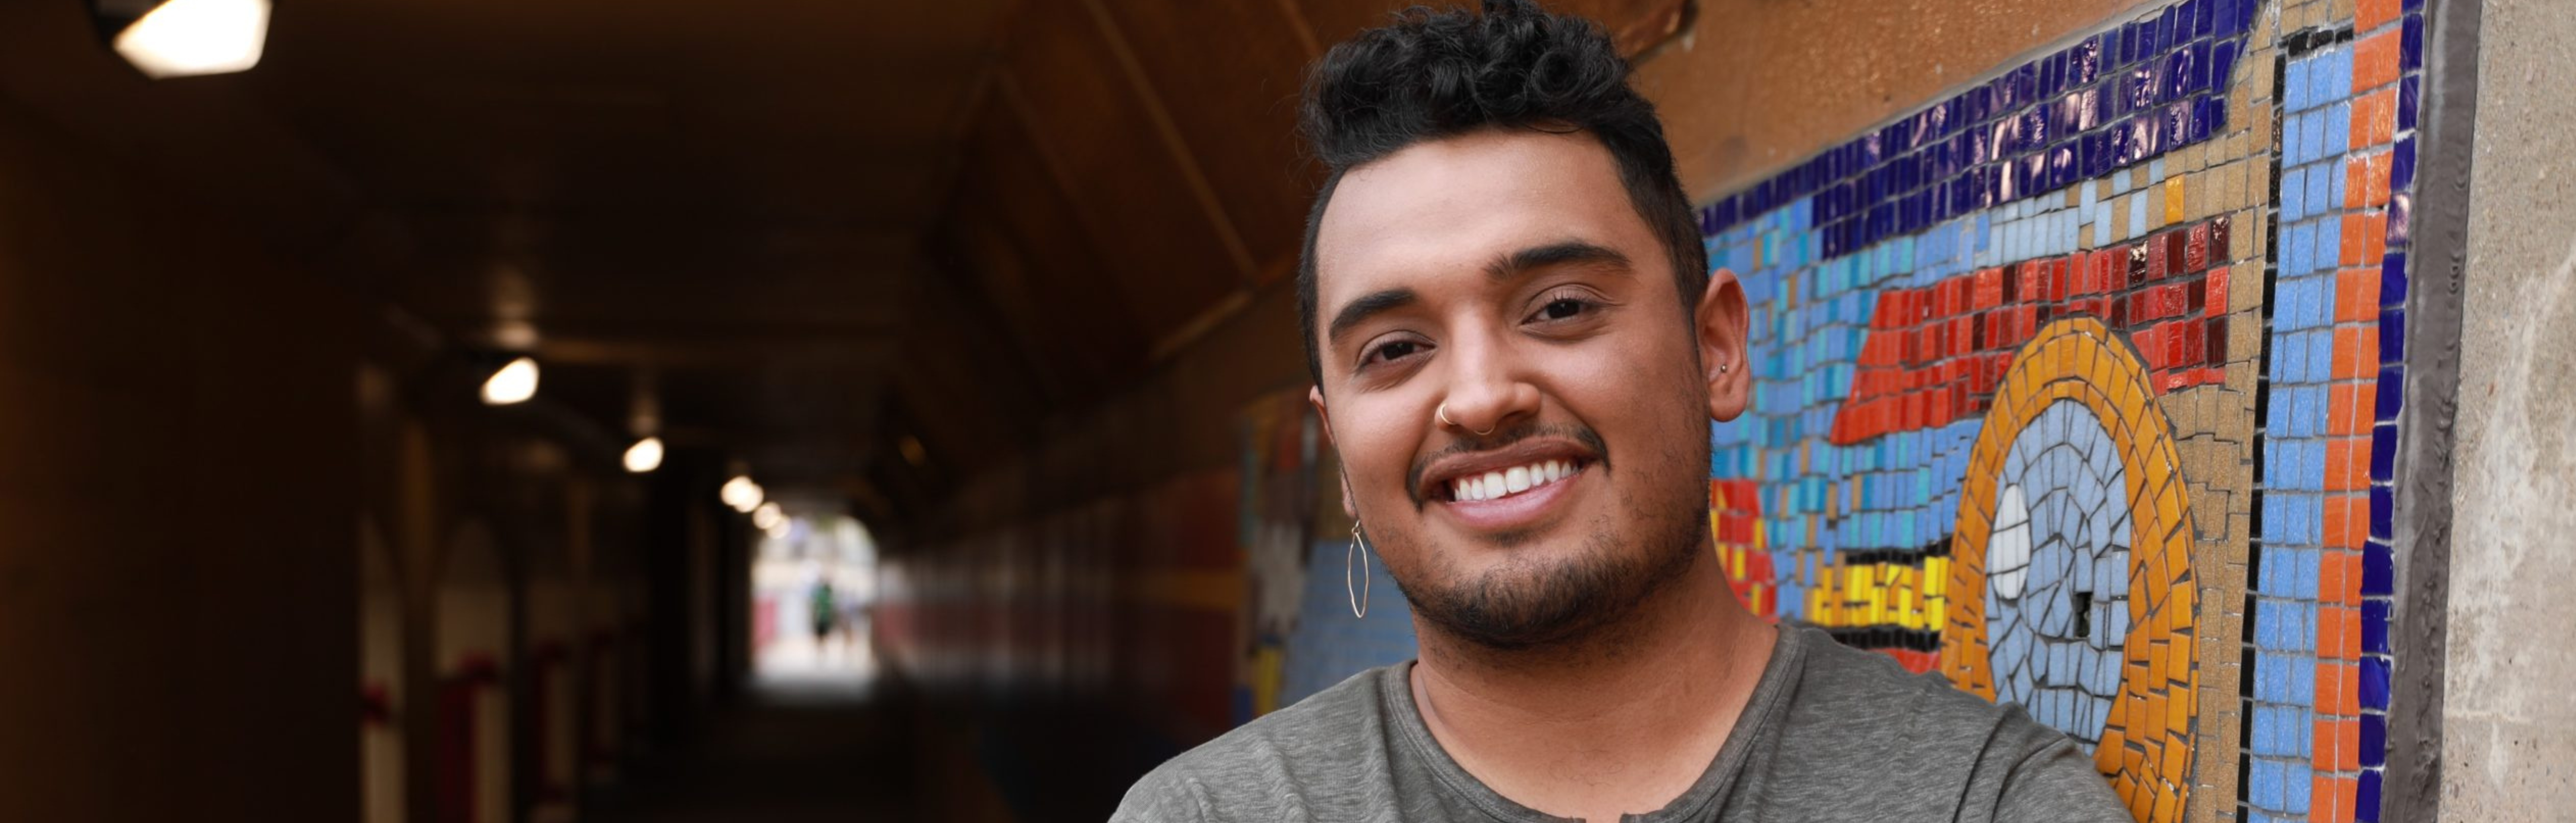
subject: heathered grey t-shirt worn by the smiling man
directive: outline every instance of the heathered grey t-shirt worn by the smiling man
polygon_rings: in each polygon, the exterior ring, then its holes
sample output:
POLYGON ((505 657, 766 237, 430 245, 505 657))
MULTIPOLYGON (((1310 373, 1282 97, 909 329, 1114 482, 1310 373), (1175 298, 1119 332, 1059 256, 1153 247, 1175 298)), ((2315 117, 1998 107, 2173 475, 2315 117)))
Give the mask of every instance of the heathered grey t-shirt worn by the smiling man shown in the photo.
MULTIPOLYGON (((1558 820, 1458 766, 1414 707, 1412 663, 1247 722, 1133 789, 1110 820, 1558 820)), ((1546 746, 1546 740, 1530 740, 1546 746)), ((1708 771, 1623 820, 2128 820, 2076 743, 2022 715, 1780 630, 1708 771)))

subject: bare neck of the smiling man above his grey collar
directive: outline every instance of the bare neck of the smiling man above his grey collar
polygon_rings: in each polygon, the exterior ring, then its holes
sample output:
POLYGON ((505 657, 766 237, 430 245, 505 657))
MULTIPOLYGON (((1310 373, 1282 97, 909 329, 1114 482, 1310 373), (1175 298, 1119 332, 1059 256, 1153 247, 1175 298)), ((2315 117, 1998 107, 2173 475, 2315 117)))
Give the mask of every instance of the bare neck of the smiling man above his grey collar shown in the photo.
POLYGON ((1772 627, 1713 557, 1566 645, 1494 650, 1417 619, 1414 704, 1440 748, 1520 805, 1651 813, 1708 771, 1770 660, 1772 627))

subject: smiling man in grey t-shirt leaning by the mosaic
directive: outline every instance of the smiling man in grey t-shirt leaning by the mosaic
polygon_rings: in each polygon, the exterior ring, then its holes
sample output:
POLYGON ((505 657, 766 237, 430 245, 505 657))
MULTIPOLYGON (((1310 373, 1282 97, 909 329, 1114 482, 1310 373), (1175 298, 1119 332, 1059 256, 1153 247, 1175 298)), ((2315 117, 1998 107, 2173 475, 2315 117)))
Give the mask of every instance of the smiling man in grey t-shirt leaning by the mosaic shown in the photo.
POLYGON ((1654 106, 1597 26, 1414 10, 1306 85, 1311 402, 1422 658, 1139 782, 1118 820, 2125 820, 2074 740, 1710 562, 1752 395, 1654 106))

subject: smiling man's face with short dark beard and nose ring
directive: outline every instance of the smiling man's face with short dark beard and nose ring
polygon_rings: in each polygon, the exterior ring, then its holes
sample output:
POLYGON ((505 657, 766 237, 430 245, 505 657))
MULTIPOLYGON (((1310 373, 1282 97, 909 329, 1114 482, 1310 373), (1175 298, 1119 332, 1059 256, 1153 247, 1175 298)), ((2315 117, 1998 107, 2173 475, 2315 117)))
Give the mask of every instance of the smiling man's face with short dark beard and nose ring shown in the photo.
POLYGON ((1314 400, 1419 617, 1561 642, 1698 557, 1708 415, 1741 397, 1716 397, 1682 307, 1587 134, 1476 132, 1342 175, 1316 227, 1314 400))

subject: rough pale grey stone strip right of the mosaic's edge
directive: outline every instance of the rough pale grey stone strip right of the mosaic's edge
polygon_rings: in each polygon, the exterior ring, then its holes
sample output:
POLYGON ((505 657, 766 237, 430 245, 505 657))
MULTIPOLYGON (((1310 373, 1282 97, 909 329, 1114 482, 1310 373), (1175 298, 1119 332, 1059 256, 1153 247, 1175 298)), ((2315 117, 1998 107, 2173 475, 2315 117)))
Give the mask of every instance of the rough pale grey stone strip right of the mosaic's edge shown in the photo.
POLYGON ((2576 815, 2576 15, 2486 0, 2460 330, 2442 818, 2576 815))

